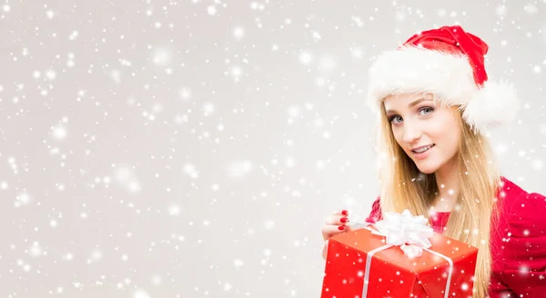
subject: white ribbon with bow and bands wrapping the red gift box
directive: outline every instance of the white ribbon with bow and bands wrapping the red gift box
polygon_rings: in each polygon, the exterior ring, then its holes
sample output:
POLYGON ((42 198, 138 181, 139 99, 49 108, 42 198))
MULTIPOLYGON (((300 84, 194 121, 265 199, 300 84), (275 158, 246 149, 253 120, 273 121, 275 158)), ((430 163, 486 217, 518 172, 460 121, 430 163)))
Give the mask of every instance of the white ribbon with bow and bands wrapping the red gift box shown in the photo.
POLYGON ((368 294, 369 284, 369 267, 371 265, 372 256, 375 253, 386 250, 392 246, 399 246, 409 258, 420 257, 423 250, 436 254, 441 258, 448 261, 450 264, 450 271, 448 273, 448 280, 444 291, 444 297, 448 298, 450 293, 451 274, 453 272, 453 261, 441 254, 433 252, 429 249, 432 244, 429 238, 433 236, 433 229, 427 226, 429 220, 422 215, 413 216, 410 210, 404 210, 401 214, 387 212, 383 214, 383 220, 371 224, 352 224, 353 229, 367 229, 373 234, 378 234, 385 237, 386 244, 376 248, 368 253, 366 258, 366 272, 364 273, 364 288, 362 289, 362 298, 366 298, 368 294), (374 226, 376 230, 369 228, 369 225, 374 226))

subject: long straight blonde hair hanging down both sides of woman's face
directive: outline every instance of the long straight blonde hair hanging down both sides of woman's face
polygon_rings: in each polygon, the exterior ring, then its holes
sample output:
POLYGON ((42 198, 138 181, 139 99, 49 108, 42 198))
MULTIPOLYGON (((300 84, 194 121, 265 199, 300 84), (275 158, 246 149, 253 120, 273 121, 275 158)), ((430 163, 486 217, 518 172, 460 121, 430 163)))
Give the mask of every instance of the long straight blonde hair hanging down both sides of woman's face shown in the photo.
MULTIPOLYGON (((435 174, 422 174, 416 164, 399 146, 391 124, 380 104, 378 151, 381 154, 379 180, 380 206, 383 212, 402 212, 429 217, 435 194, 439 193, 435 174)), ((491 273, 490 226, 497 220, 495 204, 501 175, 493 161, 486 136, 475 134, 462 119, 462 108, 450 106, 460 126, 460 142, 455 154, 459 171, 457 205, 450 213, 443 235, 478 247, 474 275, 474 297, 487 295, 491 273), (493 222, 493 223, 491 223, 493 222)))

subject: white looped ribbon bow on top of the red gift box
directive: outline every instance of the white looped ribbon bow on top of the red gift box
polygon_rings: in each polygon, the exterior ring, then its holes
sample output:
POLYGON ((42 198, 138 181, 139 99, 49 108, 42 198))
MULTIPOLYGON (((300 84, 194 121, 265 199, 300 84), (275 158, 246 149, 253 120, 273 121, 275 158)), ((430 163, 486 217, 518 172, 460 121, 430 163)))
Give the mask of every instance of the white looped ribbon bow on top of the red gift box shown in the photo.
POLYGON ((387 212, 383 214, 383 220, 373 225, 378 231, 371 233, 385 236, 387 244, 399 246, 410 258, 420 257, 423 248, 429 248, 432 244, 433 229, 427 226, 429 220, 422 215, 413 216, 410 210, 404 210, 401 214, 387 212))

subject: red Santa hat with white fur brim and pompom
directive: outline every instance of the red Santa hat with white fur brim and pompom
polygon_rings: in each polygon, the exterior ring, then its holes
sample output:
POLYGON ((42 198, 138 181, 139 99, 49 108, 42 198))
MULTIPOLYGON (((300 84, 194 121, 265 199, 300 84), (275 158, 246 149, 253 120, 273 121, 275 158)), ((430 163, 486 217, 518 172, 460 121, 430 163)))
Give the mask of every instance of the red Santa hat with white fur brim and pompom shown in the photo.
MULTIPOLYGON (((375 113, 389 94, 431 93, 440 104, 460 105, 480 134, 508 123, 520 109, 511 84, 491 82, 484 67, 488 45, 459 25, 413 35, 369 68, 369 105, 375 113)), ((379 114, 379 113, 378 113, 379 114)))

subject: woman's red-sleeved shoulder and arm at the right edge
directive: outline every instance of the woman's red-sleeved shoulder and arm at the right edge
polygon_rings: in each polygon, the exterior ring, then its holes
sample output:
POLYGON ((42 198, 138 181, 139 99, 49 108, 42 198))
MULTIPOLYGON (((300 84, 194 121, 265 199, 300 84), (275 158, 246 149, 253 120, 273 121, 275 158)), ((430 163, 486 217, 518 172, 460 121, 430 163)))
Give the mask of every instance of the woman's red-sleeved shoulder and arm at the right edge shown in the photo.
MULTIPOLYGON (((503 177, 499 200, 501 222, 495 276, 515 293, 543 293, 546 287, 546 197, 529 193, 503 177)), ((535 296, 533 296, 535 297, 535 296)))

